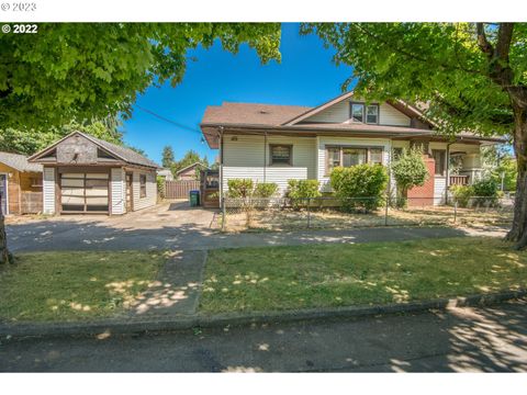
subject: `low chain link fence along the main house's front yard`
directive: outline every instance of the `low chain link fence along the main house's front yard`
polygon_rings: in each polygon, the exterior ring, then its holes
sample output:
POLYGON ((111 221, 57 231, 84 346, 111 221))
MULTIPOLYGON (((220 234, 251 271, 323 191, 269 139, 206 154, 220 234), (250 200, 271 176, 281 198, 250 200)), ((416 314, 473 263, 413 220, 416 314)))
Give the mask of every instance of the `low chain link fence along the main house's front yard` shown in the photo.
POLYGON ((438 198, 310 198, 231 199, 222 204, 220 226, 226 232, 247 229, 405 225, 470 225, 487 227, 513 221, 514 199, 472 196, 444 204, 438 198))

